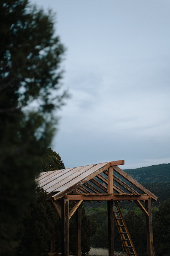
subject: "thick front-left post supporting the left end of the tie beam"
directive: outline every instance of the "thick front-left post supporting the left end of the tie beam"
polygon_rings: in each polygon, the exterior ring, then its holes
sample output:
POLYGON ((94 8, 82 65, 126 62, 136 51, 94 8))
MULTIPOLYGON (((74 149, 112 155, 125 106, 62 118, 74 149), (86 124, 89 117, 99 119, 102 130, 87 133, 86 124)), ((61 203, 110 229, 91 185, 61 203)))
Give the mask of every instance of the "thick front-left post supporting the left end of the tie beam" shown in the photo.
POLYGON ((62 256, 69 255, 69 200, 62 199, 62 256))

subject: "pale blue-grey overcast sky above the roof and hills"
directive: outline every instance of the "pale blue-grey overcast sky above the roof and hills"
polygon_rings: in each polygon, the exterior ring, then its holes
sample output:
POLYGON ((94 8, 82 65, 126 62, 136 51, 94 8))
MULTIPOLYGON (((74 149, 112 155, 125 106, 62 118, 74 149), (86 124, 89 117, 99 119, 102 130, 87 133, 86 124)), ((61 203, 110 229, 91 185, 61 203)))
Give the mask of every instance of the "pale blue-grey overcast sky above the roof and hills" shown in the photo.
POLYGON ((52 143, 65 167, 170 162, 170 1, 31 0, 56 12, 66 46, 52 143))

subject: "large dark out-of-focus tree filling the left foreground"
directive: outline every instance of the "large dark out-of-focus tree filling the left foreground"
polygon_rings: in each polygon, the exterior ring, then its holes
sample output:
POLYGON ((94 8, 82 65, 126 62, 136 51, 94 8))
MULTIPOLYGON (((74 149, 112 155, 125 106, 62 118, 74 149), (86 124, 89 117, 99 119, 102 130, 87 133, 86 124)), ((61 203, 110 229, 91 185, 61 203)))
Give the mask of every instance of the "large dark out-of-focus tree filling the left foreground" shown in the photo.
POLYGON ((63 104, 64 47, 54 19, 27 0, 0 1, 0 255, 13 255, 20 219, 35 200, 34 175, 63 104))

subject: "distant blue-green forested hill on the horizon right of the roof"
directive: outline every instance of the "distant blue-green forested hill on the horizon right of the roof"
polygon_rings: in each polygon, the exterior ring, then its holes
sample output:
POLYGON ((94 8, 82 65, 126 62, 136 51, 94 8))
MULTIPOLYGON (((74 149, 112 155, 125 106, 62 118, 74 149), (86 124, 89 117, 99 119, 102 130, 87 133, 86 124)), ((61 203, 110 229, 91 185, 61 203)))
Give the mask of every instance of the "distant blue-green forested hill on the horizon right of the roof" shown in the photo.
POLYGON ((124 170, 139 183, 170 182, 170 163, 124 170))

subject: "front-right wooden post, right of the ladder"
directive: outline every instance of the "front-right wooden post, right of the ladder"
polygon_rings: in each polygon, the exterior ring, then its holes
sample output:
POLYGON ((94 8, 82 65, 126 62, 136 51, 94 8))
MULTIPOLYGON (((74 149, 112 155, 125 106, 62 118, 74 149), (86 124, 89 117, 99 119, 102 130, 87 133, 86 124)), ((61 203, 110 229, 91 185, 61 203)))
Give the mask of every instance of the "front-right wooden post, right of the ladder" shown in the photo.
POLYGON ((149 214, 146 216, 148 256, 154 256, 151 199, 145 200, 145 208, 149 214))

